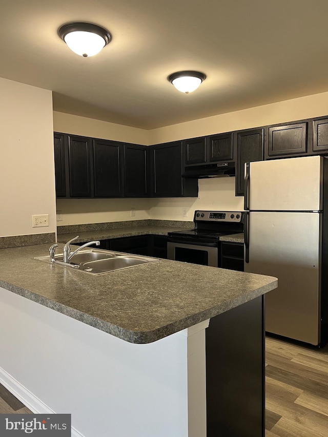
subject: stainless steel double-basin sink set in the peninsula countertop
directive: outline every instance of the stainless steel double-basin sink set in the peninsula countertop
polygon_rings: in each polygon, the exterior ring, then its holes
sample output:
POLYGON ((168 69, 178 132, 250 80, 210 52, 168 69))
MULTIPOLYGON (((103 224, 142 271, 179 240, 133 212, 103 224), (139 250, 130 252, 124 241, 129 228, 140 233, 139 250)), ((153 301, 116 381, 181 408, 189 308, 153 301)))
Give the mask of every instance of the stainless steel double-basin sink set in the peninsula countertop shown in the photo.
MULTIPOLYGON (((35 257, 34 259, 50 263, 49 256, 35 257)), ((141 255, 130 255, 90 248, 73 255, 69 263, 64 262, 64 254, 57 254, 54 256, 54 262, 51 264, 75 268, 92 275, 101 275, 156 261, 160 260, 141 255)))

